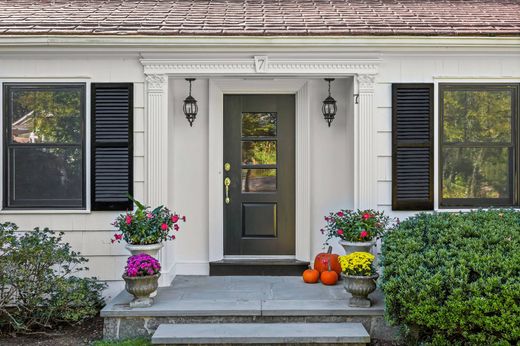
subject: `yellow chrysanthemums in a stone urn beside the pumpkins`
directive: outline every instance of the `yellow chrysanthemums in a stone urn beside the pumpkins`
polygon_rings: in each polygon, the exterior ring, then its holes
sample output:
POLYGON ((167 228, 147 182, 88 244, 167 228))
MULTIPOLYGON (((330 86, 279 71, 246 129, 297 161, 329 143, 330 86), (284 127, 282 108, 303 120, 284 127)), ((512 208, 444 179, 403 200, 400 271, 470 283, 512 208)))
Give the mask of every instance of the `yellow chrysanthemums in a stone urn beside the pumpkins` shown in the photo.
POLYGON ((369 308, 368 295, 376 289, 379 274, 374 267, 375 256, 368 252, 353 252, 339 256, 345 290, 352 294, 349 306, 369 308))

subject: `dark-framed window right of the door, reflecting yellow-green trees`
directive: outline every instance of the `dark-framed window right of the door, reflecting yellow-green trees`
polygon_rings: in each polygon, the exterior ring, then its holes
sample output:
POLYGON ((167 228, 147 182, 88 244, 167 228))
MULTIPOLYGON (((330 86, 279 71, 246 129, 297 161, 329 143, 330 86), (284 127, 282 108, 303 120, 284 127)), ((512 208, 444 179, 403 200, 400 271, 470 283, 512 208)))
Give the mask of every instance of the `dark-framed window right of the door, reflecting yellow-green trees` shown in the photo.
POLYGON ((518 205, 518 85, 440 85, 440 205, 518 205))

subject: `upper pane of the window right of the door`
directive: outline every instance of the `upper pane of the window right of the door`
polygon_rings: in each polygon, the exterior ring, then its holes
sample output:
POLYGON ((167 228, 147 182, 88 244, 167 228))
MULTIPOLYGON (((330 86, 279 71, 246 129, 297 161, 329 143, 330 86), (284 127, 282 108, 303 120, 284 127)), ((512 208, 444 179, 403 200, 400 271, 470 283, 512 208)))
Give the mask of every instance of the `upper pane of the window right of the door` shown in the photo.
POLYGON ((443 94, 444 142, 511 142, 509 90, 447 90, 443 94))

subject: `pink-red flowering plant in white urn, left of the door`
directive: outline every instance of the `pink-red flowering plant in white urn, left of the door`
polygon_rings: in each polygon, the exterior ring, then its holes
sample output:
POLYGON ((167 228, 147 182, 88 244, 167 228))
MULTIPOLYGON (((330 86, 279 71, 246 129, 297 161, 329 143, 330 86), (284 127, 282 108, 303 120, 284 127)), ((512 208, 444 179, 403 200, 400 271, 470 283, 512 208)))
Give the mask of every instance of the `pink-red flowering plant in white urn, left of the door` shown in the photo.
POLYGON ((132 200, 137 206, 135 211, 119 215, 112 224, 118 229, 112 243, 125 240, 126 248, 132 255, 146 253, 157 258, 163 247, 162 242, 175 239, 170 231, 178 231, 179 221, 185 222, 186 217, 172 213, 164 206, 150 209, 135 199, 132 200))

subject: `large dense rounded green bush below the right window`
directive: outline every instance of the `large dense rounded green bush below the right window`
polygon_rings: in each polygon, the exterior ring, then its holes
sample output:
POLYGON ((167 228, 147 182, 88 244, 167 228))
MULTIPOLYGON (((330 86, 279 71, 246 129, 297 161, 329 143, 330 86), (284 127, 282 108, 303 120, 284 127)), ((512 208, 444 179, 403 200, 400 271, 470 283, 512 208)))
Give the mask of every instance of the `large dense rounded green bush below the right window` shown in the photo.
POLYGON ((520 343, 520 213, 419 214, 382 246, 387 319, 407 343, 520 343))

